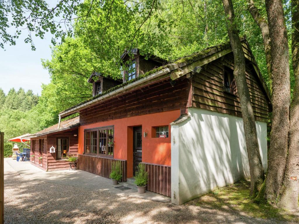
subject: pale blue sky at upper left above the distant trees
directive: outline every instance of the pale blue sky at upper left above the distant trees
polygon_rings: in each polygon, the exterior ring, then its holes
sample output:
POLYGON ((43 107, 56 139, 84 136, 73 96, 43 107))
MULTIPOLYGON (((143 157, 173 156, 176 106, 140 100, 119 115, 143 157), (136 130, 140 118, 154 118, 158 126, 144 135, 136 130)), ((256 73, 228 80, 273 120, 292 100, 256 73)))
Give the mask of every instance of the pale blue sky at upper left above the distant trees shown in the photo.
POLYGON ((43 69, 41 59, 51 58, 51 33, 45 34, 45 39, 34 39, 36 50, 32 51, 30 44, 26 44, 26 31, 16 41, 15 46, 5 45, 5 51, 0 48, 0 88, 7 92, 14 87, 26 91, 33 90, 41 93, 42 83, 50 82, 48 70, 43 69))

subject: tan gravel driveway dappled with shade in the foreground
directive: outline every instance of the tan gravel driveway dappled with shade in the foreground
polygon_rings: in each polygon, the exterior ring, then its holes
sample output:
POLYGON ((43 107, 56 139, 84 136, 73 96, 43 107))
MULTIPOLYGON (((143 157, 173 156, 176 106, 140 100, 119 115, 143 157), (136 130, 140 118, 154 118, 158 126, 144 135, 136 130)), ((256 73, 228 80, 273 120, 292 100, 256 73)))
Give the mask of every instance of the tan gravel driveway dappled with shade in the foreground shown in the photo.
POLYGON ((24 179, 4 164, 5 223, 286 223, 24 179))

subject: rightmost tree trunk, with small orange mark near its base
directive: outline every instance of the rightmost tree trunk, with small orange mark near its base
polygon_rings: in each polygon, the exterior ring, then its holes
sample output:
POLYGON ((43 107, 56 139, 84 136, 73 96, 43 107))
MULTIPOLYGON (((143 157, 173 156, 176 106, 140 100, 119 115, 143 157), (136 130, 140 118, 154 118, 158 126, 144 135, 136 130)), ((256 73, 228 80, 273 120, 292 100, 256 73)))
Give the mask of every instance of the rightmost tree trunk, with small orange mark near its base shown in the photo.
POLYGON ((290 110, 289 151, 278 206, 298 209, 299 195, 299 0, 292 0, 292 62, 295 88, 290 110))

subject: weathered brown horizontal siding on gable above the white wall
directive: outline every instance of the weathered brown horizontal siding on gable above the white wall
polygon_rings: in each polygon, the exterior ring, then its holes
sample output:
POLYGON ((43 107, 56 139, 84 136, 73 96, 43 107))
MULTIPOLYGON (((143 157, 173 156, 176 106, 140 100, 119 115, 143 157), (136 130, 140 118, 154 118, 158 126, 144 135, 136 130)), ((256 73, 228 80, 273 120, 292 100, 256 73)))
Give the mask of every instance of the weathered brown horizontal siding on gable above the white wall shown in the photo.
MULTIPOLYGON (((239 97, 223 90, 223 65, 234 68, 232 53, 210 62, 199 74, 193 75, 192 106, 242 117, 239 97)), ((255 119, 267 122, 269 100, 248 60, 246 60, 246 79, 255 119)))

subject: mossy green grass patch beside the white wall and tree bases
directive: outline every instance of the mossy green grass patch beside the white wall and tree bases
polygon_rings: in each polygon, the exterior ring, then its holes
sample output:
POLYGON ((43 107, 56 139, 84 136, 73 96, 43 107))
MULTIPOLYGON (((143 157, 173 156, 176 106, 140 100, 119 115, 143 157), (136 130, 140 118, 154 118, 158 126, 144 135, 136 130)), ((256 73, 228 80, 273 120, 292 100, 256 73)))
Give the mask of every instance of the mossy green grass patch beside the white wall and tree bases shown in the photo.
POLYGON ((205 208, 223 210, 226 212, 240 213, 242 215, 299 222, 298 214, 274 208, 269 204, 256 204, 251 199, 250 182, 241 181, 224 188, 217 189, 209 194, 187 202, 205 208))

